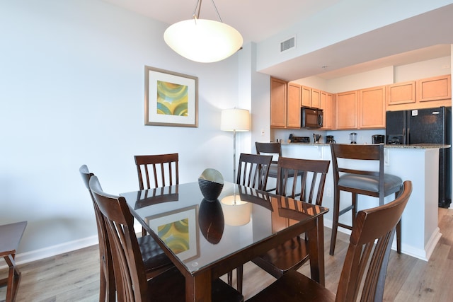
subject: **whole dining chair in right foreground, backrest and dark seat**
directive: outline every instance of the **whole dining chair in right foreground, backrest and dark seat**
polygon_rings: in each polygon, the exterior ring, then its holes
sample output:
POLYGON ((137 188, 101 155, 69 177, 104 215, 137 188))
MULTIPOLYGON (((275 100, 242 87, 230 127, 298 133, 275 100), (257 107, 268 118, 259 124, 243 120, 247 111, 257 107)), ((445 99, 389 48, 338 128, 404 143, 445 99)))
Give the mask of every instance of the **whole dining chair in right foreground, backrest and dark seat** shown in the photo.
POLYGON ((291 270, 247 301, 349 302, 358 296, 360 301, 382 301, 391 241, 411 192, 411 181, 405 181, 393 202, 357 213, 336 294, 291 270))

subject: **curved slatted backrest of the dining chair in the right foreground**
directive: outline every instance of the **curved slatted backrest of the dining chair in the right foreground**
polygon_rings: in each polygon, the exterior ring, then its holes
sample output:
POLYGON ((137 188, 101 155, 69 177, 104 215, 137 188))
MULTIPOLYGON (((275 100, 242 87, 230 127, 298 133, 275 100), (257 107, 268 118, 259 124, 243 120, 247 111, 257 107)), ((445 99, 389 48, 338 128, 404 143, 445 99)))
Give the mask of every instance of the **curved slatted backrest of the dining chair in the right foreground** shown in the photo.
POLYGON ((360 291, 361 301, 382 301, 396 223, 401 219, 411 192, 412 182, 406 180, 403 192, 393 202, 357 213, 336 301, 356 301, 360 291), (365 283, 361 286, 364 277, 365 283))

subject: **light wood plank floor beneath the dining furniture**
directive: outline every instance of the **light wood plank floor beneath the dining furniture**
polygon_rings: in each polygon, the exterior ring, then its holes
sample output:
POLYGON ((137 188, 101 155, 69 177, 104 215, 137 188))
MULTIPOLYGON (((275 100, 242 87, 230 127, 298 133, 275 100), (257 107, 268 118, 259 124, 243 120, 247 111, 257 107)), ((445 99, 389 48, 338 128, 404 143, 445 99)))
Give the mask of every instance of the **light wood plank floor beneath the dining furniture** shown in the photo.
MULTIPOLYGON (((442 238, 430 261, 392 251, 387 271, 385 301, 453 301, 453 210, 439 209, 442 238)), ((325 231, 326 286, 336 292, 348 236, 339 233, 336 255, 328 255, 330 228, 325 231)), ((20 265, 22 281, 17 301, 98 301, 99 257, 97 245, 45 260, 20 265)), ((309 275, 305 265, 299 272, 309 275)), ((6 275, 2 270, 1 277, 6 275)), ((253 263, 244 266, 243 294, 253 296, 273 277, 253 263)), ((0 289, 4 301, 6 288, 0 289)))

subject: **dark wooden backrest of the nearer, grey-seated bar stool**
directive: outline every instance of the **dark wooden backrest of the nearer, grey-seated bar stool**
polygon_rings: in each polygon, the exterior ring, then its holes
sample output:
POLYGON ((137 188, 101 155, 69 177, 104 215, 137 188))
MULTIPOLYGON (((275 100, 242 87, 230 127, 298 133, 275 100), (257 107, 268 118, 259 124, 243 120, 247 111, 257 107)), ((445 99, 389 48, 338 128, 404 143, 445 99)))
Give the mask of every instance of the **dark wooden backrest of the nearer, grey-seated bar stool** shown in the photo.
POLYGON ((340 173, 379 176, 379 193, 384 198, 384 144, 331 144, 333 183, 338 182, 340 173), (339 158, 354 161, 377 161, 379 169, 362 170, 362 168, 343 168, 339 158))

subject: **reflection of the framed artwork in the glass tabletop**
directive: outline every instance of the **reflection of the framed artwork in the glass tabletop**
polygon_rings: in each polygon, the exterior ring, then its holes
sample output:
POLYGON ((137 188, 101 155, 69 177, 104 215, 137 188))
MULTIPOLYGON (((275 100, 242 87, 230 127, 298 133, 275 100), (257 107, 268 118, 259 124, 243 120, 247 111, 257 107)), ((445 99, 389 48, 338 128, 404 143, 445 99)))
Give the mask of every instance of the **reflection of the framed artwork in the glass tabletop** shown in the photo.
POLYGON ((183 261, 199 256, 197 207, 195 204, 145 218, 151 230, 183 261))

